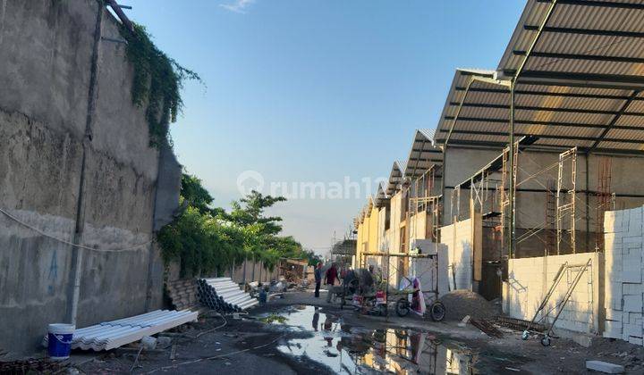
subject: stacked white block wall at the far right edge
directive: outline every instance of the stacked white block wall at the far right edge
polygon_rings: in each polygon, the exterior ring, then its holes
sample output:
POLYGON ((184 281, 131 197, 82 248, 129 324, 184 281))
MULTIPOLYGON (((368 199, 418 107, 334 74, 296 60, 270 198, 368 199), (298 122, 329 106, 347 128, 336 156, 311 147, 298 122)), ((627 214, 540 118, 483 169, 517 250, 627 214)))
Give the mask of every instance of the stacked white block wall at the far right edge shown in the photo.
POLYGON ((643 345, 644 281, 642 221, 644 210, 606 212, 606 329, 605 337, 643 345))

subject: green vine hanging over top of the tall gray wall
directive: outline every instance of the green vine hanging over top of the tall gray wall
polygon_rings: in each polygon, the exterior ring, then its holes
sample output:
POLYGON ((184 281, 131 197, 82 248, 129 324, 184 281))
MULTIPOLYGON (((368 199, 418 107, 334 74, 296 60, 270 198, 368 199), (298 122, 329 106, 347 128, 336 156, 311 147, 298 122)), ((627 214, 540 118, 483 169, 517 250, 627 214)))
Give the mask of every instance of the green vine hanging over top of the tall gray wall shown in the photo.
POLYGON ((134 65, 132 103, 146 106, 150 146, 158 147, 168 139, 170 122, 182 110, 182 83, 186 79, 199 82, 199 74, 182 67, 152 42, 145 27, 134 23, 134 31, 121 28, 127 41, 126 55, 134 65))

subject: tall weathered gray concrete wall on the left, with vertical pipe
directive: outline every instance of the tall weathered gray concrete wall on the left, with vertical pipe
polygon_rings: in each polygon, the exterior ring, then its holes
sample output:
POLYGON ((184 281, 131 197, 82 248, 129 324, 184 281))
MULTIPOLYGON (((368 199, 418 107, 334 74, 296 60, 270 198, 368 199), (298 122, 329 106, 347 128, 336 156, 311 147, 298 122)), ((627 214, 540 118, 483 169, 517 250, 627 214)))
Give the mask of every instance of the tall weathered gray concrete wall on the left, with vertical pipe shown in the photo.
POLYGON ((10 1, 0 8, 0 208, 65 241, 78 227, 80 242, 97 248, 75 251, 0 216, 0 347, 21 354, 36 349, 47 323, 70 320, 77 255, 79 327, 161 305, 162 264, 149 245, 158 151, 148 146, 144 110, 131 104, 124 46, 99 38, 120 36, 97 1, 10 1), (98 251, 140 244, 148 245, 98 251))

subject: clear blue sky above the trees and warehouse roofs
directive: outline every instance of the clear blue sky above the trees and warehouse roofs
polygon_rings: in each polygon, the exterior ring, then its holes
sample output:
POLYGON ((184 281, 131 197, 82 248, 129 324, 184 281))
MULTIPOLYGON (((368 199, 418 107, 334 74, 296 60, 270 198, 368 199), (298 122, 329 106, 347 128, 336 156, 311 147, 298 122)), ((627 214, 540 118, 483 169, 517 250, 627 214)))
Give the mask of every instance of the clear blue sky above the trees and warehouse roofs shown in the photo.
MULTIPOLYGON (((436 128, 456 68, 494 69, 522 0, 131 1, 157 46, 199 72, 172 126, 179 161, 216 205, 237 179, 320 182, 388 177, 414 129, 436 128)), ((291 186, 291 185, 289 185, 291 186)), ((304 246, 342 237, 360 198, 298 198, 271 213, 304 246)), ((266 190, 265 190, 266 191, 266 190)), ((292 189, 289 190, 292 192, 292 189)), ((328 190, 327 190, 328 193, 328 190)))

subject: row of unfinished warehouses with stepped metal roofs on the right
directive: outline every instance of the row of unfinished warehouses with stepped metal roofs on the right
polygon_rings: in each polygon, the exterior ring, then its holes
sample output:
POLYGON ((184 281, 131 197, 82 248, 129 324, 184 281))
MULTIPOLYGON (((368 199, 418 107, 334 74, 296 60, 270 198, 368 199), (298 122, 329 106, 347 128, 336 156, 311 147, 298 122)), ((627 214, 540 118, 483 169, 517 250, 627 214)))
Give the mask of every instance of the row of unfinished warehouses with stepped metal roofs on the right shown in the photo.
POLYGON ((369 197, 353 266, 396 286, 418 272, 403 254, 436 252, 439 291, 642 345, 643 45, 644 4, 528 1, 496 69, 455 71, 369 197))

